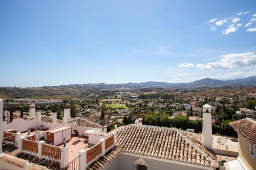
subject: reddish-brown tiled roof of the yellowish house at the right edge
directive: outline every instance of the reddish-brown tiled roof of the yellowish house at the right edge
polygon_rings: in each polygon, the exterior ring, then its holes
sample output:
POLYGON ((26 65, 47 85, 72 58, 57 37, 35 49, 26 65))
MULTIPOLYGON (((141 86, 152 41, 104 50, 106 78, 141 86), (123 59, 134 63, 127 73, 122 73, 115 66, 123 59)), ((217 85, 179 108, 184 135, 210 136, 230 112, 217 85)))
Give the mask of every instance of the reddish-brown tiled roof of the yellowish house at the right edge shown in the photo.
POLYGON ((250 118, 243 118, 229 123, 241 136, 256 147, 256 122, 250 118))

